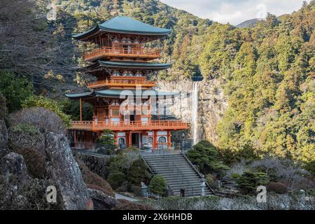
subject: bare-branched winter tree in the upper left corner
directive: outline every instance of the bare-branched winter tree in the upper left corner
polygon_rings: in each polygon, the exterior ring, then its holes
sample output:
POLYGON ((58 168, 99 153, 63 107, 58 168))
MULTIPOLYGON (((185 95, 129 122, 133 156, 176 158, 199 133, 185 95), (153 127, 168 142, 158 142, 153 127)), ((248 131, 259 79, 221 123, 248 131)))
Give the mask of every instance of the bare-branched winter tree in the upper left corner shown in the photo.
POLYGON ((71 17, 57 15, 57 21, 49 22, 46 18, 49 3, 0 1, 0 71, 27 76, 35 86, 66 89, 69 87, 61 84, 69 83, 64 79, 73 80, 76 64, 70 38, 74 20, 65 22, 71 17))

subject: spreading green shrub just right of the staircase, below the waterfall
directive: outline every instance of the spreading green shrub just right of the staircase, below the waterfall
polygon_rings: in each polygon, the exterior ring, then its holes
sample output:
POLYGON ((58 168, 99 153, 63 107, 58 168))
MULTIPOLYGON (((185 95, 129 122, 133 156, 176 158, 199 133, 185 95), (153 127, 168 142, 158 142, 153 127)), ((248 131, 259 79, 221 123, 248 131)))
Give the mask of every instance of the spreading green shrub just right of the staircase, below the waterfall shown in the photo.
POLYGON ((224 171, 230 169, 219 160, 216 147, 209 141, 200 141, 193 150, 188 151, 187 156, 204 174, 211 171, 223 174, 224 171))

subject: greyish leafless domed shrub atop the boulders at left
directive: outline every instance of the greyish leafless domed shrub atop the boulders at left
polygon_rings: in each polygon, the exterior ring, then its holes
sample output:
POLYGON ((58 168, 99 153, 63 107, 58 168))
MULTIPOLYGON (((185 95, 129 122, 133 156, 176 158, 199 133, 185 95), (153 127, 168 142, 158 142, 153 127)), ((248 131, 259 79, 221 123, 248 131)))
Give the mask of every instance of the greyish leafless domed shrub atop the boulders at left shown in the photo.
POLYGON ((64 134, 66 131, 62 119, 56 113, 42 107, 33 107, 15 112, 9 118, 10 127, 27 124, 36 127, 41 133, 55 132, 64 134))

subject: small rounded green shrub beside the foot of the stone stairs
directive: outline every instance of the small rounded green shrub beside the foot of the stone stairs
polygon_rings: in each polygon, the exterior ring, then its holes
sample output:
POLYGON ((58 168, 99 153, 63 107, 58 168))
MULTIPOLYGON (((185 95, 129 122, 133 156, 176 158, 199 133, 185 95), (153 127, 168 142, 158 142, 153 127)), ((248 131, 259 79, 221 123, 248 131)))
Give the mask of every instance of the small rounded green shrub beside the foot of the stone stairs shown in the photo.
POLYGON ((127 179, 130 183, 140 185, 141 181, 146 181, 150 174, 143 160, 135 160, 128 169, 127 179))

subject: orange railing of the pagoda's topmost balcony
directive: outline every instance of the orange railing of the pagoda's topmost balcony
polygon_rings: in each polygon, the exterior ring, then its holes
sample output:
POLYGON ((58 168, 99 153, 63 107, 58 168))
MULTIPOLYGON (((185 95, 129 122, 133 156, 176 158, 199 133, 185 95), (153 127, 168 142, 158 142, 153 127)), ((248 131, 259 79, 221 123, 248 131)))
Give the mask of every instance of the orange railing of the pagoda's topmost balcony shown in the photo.
POLYGON ((139 57, 156 59, 160 57, 160 50, 145 48, 113 48, 113 47, 102 47, 86 52, 83 55, 83 59, 90 61, 98 59, 100 57, 139 57))

